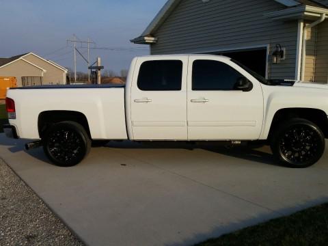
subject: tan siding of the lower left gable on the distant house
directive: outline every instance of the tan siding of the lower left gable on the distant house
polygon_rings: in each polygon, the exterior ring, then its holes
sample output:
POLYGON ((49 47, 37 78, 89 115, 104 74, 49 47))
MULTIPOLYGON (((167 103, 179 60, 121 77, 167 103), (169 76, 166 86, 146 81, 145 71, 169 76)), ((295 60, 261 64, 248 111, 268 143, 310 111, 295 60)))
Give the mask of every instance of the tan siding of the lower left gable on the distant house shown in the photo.
POLYGON ((16 77, 17 86, 22 86, 22 77, 42 77, 42 70, 28 64, 26 61, 18 59, 12 64, 0 68, 0 76, 16 77))

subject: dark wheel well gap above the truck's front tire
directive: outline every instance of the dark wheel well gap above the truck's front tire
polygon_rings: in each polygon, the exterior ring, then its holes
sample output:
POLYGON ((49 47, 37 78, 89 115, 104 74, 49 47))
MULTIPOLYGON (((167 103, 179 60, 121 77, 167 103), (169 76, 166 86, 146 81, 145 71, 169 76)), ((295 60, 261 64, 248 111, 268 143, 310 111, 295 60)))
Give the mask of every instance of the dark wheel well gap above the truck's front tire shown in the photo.
POLYGON ((289 109, 279 109, 275 116, 273 117, 271 128, 269 132, 270 139, 271 135, 275 131, 275 127, 279 126, 282 122, 290 120, 292 118, 303 118, 313 122, 325 135, 325 138, 328 138, 328 118, 325 111, 320 109, 307 109, 307 108, 289 108, 289 109))

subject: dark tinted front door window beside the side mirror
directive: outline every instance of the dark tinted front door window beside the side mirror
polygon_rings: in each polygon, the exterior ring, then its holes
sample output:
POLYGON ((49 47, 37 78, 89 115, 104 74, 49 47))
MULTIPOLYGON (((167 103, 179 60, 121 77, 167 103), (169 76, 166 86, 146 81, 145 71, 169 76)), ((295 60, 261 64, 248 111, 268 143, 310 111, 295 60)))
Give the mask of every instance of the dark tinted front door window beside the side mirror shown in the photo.
POLYGON ((193 61, 193 90, 234 90, 238 71, 221 61, 193 61))

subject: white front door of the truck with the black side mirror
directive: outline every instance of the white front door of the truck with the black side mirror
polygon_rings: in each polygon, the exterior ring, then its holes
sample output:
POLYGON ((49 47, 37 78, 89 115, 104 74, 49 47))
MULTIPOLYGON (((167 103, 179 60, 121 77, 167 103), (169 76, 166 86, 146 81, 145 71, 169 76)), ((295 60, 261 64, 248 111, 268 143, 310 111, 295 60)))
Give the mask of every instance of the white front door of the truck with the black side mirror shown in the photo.
POLYGON ((262 130, 263 95, 260 82, 226 57, 189 58, 189 140, 258 139, 262 130), (248 79, 249 91, 236 89, 248 79))

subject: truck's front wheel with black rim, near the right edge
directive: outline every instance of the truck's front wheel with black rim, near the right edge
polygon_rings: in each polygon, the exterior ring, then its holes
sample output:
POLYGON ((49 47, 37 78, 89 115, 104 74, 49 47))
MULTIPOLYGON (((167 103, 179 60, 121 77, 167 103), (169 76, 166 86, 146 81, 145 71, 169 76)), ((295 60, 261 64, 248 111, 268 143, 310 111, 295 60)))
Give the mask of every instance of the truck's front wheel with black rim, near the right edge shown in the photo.
POLYGON ((325 135, 320 128, 305 119, 283 122, 271 139, 271 150, 288 167, 310 167, 325 151, 325 135))

